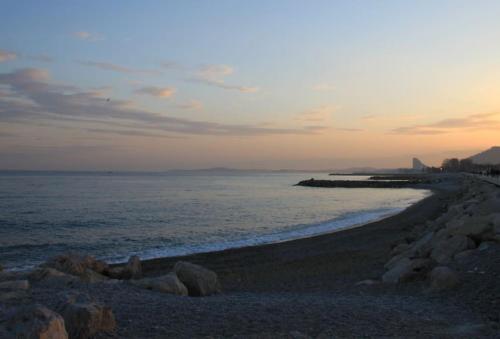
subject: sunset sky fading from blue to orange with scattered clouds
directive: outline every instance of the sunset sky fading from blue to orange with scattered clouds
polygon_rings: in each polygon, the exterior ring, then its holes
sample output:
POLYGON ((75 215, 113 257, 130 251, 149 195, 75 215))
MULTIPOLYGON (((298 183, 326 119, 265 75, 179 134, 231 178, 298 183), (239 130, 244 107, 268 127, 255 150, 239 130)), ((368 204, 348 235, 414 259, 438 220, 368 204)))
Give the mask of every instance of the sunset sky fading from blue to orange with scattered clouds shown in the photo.
POLYGON ((23 1, 0 169, 438 165, 500 145, 499 1, 23 1))

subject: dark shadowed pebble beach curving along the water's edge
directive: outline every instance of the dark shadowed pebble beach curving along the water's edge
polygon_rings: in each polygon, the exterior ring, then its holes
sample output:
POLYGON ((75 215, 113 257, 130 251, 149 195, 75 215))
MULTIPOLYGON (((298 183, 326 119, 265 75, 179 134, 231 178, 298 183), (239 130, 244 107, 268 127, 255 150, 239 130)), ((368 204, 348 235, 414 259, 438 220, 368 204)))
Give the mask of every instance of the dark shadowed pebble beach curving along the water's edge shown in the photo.
MULTIPOLYGON (((164 275, 180 260, 202 265, 217 273, 219 294, 176 296, 126 281, 78 281, 69 286, 39 281, 32 284, 29 302, 57 309, 68 294, 85 293, 110 307, 116 318, 115 330, 95 337, 500 337, 498 243, 481 234, 467 237, 472 243, 458 256, 435 256, 432 248, 424 253, 425 246, 412 252, 429 232, 438 239, 439 225, 449 224, 452 214, 489 215, 495 208, 500 212, 495 200, 500 201, 500 190, 461 176, 447 176, 427 188, 433 189, 432 196, 363 227, 142 262, 146 277, 164 275), (429 266, 404 271, 398 264, 397 275, 387 263, 398 256, 403 258, 396 258, 400 263, 429 266), (430 270, 440 266, 455 272, 459 282, 433 287, 430 270)), ((494 240, 495 234, 491 237, 494 240)))

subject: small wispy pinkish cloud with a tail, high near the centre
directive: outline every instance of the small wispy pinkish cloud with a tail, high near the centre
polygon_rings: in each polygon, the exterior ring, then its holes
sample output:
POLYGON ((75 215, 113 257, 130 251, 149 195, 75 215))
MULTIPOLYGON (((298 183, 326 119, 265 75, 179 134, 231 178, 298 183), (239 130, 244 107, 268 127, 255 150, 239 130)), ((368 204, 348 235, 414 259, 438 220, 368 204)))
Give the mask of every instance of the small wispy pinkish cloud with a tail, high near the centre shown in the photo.
POLYGON ((209 86, 219 87, 227 90, 235 90, 242 93, 255 93, 259 91, 258 87, 226 84, 225 78, 232 75, 233 72, 233 67, 228 65, 204 65, 198 69, 195 76, 190 80, 209 86))

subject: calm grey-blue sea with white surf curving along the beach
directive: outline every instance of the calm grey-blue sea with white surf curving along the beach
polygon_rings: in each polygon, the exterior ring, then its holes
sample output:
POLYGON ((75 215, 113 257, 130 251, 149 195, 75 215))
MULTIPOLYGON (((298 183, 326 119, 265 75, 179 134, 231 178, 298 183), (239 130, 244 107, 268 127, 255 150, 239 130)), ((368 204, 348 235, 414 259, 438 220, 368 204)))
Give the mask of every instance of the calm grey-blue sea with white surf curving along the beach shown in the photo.
MULTIPOLYGON (((67 251, 110 262, 285 241, 394 214, 415 189, 294 186, 326 173, 0 172, 0 263, 67 251)), ((345 177, 360 180, 367 177, 345 177)))

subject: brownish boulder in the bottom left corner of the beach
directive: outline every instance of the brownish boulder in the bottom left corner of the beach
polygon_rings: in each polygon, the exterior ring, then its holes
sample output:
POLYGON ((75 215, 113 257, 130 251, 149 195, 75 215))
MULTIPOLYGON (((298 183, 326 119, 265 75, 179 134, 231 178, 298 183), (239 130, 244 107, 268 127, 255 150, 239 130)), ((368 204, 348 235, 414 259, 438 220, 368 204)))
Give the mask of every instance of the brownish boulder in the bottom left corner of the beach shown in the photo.
POLYGON ((6 320, 5 330, 13 338, 68 338, 63 318, 41 305, 29 305, 17 309, 6 320))

